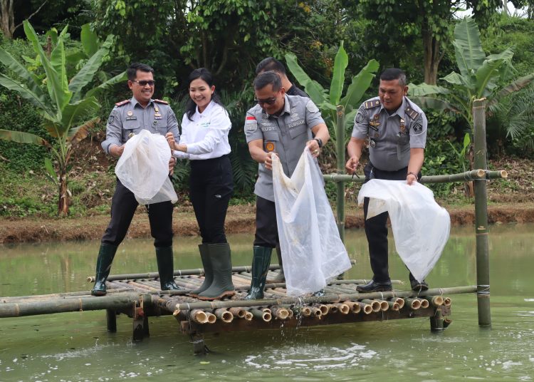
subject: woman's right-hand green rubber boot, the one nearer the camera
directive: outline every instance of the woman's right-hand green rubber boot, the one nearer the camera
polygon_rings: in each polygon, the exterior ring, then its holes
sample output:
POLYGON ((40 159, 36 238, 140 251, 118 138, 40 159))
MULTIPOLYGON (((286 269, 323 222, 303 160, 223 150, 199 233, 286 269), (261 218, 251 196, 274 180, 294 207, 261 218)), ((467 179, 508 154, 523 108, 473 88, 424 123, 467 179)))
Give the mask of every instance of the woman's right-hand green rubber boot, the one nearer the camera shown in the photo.
POLYGON ((199 300, 215 300, 234 296, 232 283, 231 250, 228 243, 208 244, 209 259, 213 271, 213 282, 208 289, 199 293, 199 300))

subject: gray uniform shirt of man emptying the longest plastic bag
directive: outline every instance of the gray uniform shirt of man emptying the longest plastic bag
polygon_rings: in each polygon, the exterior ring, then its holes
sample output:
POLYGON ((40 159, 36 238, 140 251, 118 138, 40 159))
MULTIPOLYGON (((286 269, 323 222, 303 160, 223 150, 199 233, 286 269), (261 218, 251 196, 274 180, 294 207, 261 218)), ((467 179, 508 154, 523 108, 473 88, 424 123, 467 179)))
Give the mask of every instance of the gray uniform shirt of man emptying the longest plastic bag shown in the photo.
MULTIPOLYGON (((263 140, 263 150, 278 154, 283 172, 290 177, 297 167, 306 142, 312 138, 311 129, 325 121, 310 98, 287 95, 284 97, 286 102, 278 116, 268 115, 260 105, 248 110, 245 135, 247 143, 263 140)), ((273 172, 260 163, 258 173, 254 193, 274 202, 273 172)))

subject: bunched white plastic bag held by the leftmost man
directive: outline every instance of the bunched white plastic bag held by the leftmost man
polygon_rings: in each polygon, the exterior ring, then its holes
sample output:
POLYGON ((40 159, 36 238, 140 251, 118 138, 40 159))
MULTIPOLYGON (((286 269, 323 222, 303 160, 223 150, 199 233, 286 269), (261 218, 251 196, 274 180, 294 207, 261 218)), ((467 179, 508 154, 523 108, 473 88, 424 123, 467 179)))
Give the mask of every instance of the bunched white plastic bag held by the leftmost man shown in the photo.
POLYGON ((178 197, 169 180, 170 158, 171 150, 163 135, 141 130, 125 143, 115 174, 142 205, 167 200, 175 203, 178 197))

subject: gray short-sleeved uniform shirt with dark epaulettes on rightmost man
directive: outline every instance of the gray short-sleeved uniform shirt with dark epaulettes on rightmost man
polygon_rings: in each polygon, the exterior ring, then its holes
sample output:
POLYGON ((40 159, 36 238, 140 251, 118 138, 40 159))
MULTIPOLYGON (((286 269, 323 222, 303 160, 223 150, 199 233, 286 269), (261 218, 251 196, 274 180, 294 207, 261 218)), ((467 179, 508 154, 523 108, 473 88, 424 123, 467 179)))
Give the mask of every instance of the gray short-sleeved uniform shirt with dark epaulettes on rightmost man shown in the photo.
POLYGON ((400 170, 408 165, 410 148, 426 145, 426 116, 407 97, 391 115, 379 97, 371 98, 358 109, 352 136, 369 138, 370 160, 379 170, 400 170))

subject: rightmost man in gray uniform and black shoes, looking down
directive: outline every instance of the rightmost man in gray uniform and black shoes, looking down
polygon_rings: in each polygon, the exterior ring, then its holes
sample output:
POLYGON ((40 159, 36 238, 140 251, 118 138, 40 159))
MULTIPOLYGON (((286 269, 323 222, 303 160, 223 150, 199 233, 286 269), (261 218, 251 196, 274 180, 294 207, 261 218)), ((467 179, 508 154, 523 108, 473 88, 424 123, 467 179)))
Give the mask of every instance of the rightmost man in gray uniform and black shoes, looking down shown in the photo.
MULTIPOLYGON (((365 165, 365 181, 370 179, 406 180, 412 185, 421 177, 426 145, 426 116, 406 97, 406 75, 389 68, 380 75, 378 97, 366 100, 358 109, 352 137, 347 146, 349 173, 360 163, 362 148, 368 140, 370 162, 365 165)), ((387 212, 367 220, 369 198, 364 200, 365 234, 373 278, 358 291, 391 291, 387 261, 387 212)), ((409 274, 412 289, 428 289, 428 284, 409 274)))

